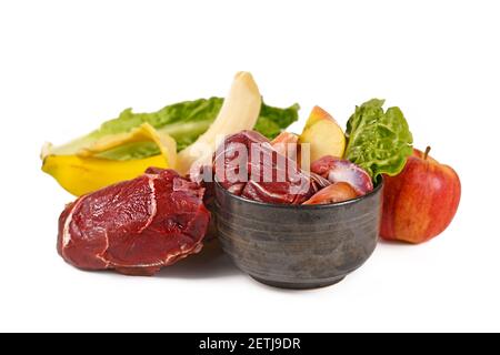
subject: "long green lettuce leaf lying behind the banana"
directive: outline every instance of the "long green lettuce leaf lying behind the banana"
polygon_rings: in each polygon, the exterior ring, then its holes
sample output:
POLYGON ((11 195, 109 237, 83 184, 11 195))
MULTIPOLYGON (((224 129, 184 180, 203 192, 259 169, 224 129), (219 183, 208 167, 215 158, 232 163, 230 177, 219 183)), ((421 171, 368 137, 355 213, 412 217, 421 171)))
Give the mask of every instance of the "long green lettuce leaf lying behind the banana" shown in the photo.
MULTIPOLYGON (((199 99, 178 102, 151 113, 134 113, 127 109, 113 120, 107 121, 90 134, 66 145, 54 148, 52 153, 71 155, 80 149, 112 134, 127 133, 142 123, 149 123, 161 133, 168 133, 177 142, 179 151, 192 144, 216 120, 222 106, 222 98, 199 99)), ((262 103, 256 130, 269 139, 298 120, 299 105, 279 109, 262 103)), ((151 142, 134 142, 100 153, 98 156, 112 160, 142 159, 159 154, 158 146, 151 142)))

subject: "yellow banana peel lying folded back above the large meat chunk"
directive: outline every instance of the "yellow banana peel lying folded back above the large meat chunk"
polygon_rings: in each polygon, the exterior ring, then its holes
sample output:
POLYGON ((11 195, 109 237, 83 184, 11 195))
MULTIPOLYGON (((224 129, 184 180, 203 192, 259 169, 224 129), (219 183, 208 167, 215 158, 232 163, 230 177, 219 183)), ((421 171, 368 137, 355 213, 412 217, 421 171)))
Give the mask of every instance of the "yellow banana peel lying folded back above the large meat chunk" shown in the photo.
POLYGON ((50 143, 43 146, 42 171, 54 178, 64 190, 76 196, 134 179, 150 166, 174 169, 177 164, 176 141, 168 134, 159 133, 149 123, 144 123, 129 133, 98 140, 72 155, 57 155, 52 151, 50 143), (141 141, 154 142, 161 154, 127 161, 98 156, 99 153, 122 144, 141 141))

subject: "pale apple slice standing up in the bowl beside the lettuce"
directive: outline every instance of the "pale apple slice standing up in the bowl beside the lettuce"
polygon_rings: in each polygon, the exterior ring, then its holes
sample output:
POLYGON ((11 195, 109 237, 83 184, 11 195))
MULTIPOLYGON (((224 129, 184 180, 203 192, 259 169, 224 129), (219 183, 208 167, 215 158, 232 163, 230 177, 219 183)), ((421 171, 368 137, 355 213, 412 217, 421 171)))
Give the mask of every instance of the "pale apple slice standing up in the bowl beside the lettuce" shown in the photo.
POLYGON ((314 106, 302 134, 299 136, 299 143, 310 144, 311 162, 324 155, 341 158, 346 150, 346 135, 327 111, 314 106))

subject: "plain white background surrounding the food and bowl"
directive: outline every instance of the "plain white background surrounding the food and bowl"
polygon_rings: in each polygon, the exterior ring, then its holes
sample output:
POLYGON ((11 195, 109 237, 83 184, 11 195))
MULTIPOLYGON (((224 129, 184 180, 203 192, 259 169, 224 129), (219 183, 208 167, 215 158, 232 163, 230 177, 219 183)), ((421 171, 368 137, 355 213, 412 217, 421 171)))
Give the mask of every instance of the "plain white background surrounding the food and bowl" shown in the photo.
MULTIPOLYGON (((498 1, 2 1, 0 331, 500 331, 498 1), (122 109, 224 95, 344 124, 373 97, 452 165, 462 200, 420 245, 381 243, 337 286, 260 285, 207 251, 157 277, 84 273, 56 253, 72 196, 40 171, 122 109)), ((294 126, 300 131, 300 125, 294 126)))

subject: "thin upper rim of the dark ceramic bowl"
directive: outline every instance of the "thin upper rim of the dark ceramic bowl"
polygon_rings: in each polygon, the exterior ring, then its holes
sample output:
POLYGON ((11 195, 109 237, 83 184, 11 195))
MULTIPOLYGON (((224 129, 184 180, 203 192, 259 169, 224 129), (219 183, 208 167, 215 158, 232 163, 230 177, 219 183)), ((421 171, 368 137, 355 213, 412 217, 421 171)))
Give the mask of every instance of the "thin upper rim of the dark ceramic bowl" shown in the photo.
MULTIPOLYGON (((377 176, 377 181, 373 184, 373 190, 370 191, 369 193, 362 195, 362 196, 359 196, 359 197, 356 197, 356 199, 351 199, 351 200, 347 200, 347 201, 342 201, 342 202, 336 202, 336 203, 306 204, 306 205, 304 204, 278 204, 278 203, 268 203, 268 202, 253 201, 253 200, 249 200, 249 199, 244 199, 244 197, 238 196, 238 195, 229 192, 227 189, 224 189, 217 181, 217 179, 213 180, 213 183, 216 184, 216 189, 222 191, 223 194, 228 195, 230 199, 238 200, 238 201, 240 201, 242 203, 253 204, 253 205, 261 206, 261 207, 272 207, 272 209, 282 209, 282 210, 297 210, 297 211, 313 211, 313 210, 334 209, 334 207, 346 206, 346 205, 356 204, 358 202, 361 202, 362 200, 368 199, 368 197, 379 193, 379 191, 383 187, 384 179, 383 179, 382 175, 378 175, 377 176)), ((216 195, 216 202, 217 202, 217 195, 216 195)))

